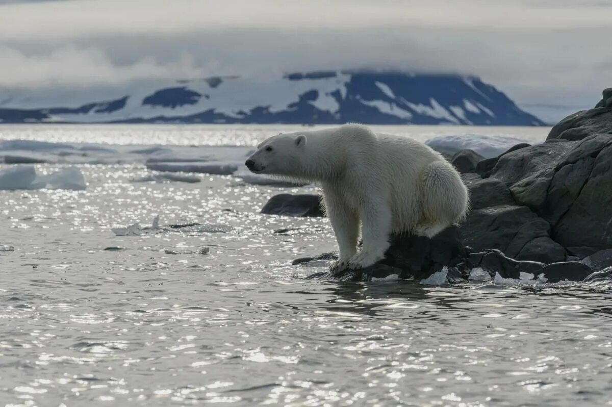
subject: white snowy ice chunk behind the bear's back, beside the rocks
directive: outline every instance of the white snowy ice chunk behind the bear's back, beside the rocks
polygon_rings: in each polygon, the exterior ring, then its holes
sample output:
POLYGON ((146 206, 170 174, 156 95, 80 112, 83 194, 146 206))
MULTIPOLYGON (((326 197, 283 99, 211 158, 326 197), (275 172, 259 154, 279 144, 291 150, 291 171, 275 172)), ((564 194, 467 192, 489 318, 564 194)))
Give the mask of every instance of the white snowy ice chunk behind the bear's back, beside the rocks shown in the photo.
POLYGON ((455 152, 470 149, 485 157, 497 157, 502 152, 506 152, 510 147, 520 143, 533 143, 514 136, 487 136, 480 134, 463 134, 438 136, 425 142, 428 146, 438 152, 453 155, 455 152))

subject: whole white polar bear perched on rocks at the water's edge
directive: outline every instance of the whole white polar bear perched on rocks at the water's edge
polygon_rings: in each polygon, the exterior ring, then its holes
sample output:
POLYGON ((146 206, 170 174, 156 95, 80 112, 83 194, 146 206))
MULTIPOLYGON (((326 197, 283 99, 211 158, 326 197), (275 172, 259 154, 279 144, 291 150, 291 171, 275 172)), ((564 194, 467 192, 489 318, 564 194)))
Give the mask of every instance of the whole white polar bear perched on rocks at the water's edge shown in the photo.
POLYGON ((468 190, 442 155, 364 125, 272 136, 245 165, 256 174, 321 184, 340 251, 332 274, 383 259, 391 233, 433 237, 461 222, 469 206, 468 190))

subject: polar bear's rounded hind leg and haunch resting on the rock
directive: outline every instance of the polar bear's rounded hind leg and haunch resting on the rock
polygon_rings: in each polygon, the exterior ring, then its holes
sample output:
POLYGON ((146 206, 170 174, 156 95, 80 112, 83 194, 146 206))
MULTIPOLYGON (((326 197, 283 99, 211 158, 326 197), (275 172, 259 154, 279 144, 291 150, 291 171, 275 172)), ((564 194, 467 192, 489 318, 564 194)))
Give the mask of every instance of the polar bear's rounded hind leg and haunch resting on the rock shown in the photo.
POLYGON ((421 173, 420 186, 422 220, 417 234, 433 237, 465 220, 468 189, 450 163, 435 161, 427 165, 421 173))

